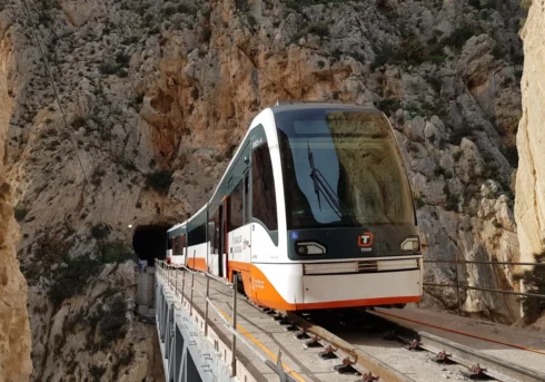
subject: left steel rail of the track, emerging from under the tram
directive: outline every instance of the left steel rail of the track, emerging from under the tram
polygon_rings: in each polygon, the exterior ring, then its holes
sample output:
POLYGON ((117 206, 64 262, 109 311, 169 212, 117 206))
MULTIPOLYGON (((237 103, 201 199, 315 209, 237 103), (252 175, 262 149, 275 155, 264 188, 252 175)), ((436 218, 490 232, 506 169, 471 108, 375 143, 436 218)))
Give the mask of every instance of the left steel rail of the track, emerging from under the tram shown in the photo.
POLYGON ((409 376, 400 373, 396 369, 389 366, 383 361, 376 359, 371 354, 358 349, 345 340, 338 337, 326 329, 309 323, 300 315, 294 312, 283 312, 288 320, 290 320, 294 324, 301 327, 303 330, 311 333, 327 342, 329 342, 335 347, 340 349, 343 352, 347 353, 351 357, 354 357, 354 362, 361 368, 368 370, 373 374, 376 374, 380 378, 380 381, 389 381, 389 382, 415 382, 415 380, 409 376))

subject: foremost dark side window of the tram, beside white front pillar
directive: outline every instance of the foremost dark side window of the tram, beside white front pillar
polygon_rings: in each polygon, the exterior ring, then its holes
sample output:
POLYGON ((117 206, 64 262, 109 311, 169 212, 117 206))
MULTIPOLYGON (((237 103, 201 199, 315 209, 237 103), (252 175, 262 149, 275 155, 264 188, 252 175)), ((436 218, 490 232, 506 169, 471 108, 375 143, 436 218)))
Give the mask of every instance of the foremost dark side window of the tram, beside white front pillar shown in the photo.
POLYGON ((267 145, 251 153, 251 187, 254 217, 261 221, 269 231, 277 231, 275 179, 267 145))

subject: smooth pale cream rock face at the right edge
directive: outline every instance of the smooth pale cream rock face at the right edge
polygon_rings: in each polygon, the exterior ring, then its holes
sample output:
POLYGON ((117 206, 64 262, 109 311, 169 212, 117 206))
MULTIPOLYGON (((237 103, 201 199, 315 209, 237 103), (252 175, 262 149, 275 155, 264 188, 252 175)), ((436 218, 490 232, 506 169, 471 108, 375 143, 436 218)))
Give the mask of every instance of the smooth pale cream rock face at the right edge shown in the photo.
POLYGON ((545 251, 545 1, 534 0, 522 30, 524 75, 523 118, 518 126, 519 167, 516 176, 515 216, 518 225, 521 259, 545 251))

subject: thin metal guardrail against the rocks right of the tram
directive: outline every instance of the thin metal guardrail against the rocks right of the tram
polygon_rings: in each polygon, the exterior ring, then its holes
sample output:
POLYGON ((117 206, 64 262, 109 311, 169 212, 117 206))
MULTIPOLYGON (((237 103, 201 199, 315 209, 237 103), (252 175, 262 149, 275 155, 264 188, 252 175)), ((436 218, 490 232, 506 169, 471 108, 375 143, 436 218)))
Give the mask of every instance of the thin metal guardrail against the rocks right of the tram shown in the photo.
POLYGON ((455 255, 454 259, 424 259, 424 263, 438 263, 438 264, 455 264, 455 284, 436 284, 436 283, 424 283, 424 286, 437 286, 437 287, 453 287, 456 288, 456 298, 458 301, 458 315, 462 315, 462 301, 459 291, 460 290, 470 290, 470 291, 483 291, 483 292, 492 292, 492 293, 502 293, 502 294, 512 294, 518 296, 526 297, 536 297, 536 298, 545 298, 545 294, 539 293, 528 293, 528 292, 516 292, 516 291, 505 291, 505 290, 492 290, 488 287, 479 287, 479 286, 469 286, 469 285, 460 285, 460 280, 458 275, 458 265, 464 264, 480 264, 480 265, 511 265, 511 266, 545 266, 545 263, 515 263, 515 262, 492 262, 492 261, 469 261, 465 258, 458 258, 458 255, 455 255))

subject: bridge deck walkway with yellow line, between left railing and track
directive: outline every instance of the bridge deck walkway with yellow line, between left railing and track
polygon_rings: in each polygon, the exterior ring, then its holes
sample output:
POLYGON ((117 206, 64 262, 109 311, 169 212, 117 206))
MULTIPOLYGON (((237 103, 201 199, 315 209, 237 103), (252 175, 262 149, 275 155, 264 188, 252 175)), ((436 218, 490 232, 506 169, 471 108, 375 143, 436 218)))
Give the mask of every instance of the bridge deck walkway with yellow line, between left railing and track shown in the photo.
MULTIPOLYGON (((167 271, 172 272, 172 271, 167 271)), ((190 285, 194 280, 196 292, 192 295, 192 319, 198 323, 200 331, 204 331, 206 278, 200 274, 176 271, 170 274, 170 284, 164 277, 158 282, 164 284, 164 288, 169 294, 169 298, 175 297, 179 303, 179 308, 184 306, 186 312, 190 311, 190 285), (185 277, 185 281, 184 281, 185 277), (185 300, 181 303, 181 291, 184 287, 185 300), (175 294, 175 288, 178 291, 175 294)), ((209 307, 209 330, 210 342, 224 361, 229 364, 231 359, 232 333, 226 327, 225 319, 232 322, 232 287, 210 280, 209 301, 217 311, 209 307), (216 340, 219 340, 216 344, 216 340)), ((179 310, 177 307, 177 310, 179 310)), ((175 312, 177 314, 177 312, 175 312)), ((237 326, 244 335, 244 340, 251 346, 248 347, 237 339, 237 375, 240 381, 279 381, 277 373, 266 365, 262 357, 267 357, 275 365, 277 364, 278 351, 281 351, 281 361, 286 374, 293 381, 327 381, 327 382, 354 382, 354 374, 339 374, 334 366, 340 364, 340 360, 323 360, 318 353, 319 349, 304 349, 306 341, 295 337, 294 332, 288 332, 259 308, 255 307, 240 295, 237 296, 237 326)))

